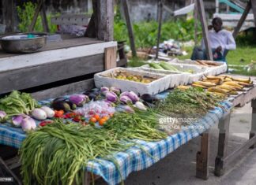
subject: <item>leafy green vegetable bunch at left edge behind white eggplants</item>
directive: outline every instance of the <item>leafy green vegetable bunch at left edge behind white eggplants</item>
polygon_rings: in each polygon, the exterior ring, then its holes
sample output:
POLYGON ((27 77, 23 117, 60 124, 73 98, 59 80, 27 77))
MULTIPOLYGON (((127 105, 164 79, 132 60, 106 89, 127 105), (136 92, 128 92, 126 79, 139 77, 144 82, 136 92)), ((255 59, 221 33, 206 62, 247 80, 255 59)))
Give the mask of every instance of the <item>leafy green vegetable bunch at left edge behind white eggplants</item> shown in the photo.
POLYGON ((0 99, 0 110, 5 111, 9 117, 21 113, 29 114, 36 107, 39 107, 39 105, 30 94, 19 91, 13 91, 5 98, 0 99))

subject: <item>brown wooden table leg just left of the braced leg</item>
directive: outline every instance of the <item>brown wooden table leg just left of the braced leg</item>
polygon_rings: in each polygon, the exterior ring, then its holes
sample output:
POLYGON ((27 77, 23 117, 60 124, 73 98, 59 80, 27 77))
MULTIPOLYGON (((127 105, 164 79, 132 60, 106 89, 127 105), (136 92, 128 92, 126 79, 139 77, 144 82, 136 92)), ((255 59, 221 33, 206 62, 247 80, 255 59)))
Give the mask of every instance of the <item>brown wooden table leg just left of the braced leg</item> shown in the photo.
POLYGON ((209 177, 209 133, 201 135, 201 151, 197 154, 196 177, 208 179, 209 177))

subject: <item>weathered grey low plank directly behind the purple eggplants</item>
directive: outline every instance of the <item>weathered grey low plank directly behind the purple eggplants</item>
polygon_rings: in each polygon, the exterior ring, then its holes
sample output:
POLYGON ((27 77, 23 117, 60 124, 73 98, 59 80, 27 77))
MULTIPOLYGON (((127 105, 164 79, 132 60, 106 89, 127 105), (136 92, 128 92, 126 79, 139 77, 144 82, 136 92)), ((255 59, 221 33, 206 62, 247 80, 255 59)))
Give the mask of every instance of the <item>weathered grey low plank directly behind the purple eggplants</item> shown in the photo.
POLYGON ((44 91, 38 91, 36 93, 32 93, 32 97, 36 98, 36 100, 43 100, 49 97, 60 97, 68 94, 83 92, 85 90, 90 90, 93 87, 95 87, 94 80, 89 79, 83 80, 81 82, 70 83, 67 85, 47 89, 44 91))

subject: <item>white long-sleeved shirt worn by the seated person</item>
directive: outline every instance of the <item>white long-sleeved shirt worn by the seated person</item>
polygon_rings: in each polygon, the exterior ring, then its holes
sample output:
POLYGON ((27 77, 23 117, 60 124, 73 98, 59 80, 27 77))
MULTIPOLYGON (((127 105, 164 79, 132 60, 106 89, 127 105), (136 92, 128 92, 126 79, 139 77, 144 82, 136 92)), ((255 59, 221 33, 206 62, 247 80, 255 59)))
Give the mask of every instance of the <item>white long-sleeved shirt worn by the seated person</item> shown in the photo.
MULTIPOLYGON (((210 30, 208 33, 209 43, 212 49, 216 49, 218 46, 221 46, 222 52, 224 50, 235 50, 235 39, 231 31, 220 30, 219 32, 216 32, 214 30, 210 30)), ((203 39, 201 40, 201 47, 205 49, 205 43, 203 39)))

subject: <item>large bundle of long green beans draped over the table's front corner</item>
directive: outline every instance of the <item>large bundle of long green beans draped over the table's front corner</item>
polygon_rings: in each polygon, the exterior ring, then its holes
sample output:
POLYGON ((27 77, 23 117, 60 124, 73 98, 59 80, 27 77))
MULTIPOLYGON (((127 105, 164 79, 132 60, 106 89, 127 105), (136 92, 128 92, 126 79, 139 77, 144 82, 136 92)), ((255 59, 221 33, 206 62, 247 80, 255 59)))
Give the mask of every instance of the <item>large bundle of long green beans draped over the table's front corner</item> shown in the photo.
POLYGON ((28 135, 21 146, 21 173, 24 184, 77 184, 82 182, 81 170, 89 160, 126 150, 111 131, 62 120, 28 135))

